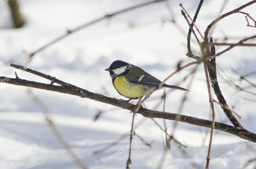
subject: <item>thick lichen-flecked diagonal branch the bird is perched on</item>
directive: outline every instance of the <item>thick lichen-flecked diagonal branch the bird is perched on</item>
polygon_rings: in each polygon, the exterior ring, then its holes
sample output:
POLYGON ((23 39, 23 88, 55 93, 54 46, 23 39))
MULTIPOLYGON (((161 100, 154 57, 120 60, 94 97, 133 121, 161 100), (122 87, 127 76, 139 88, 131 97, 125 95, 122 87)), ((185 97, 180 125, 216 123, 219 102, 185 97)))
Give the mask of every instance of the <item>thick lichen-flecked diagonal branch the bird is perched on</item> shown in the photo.
MULTIPOLYGON (((19 65, 16 65, 16 66, 22 67, 19 65)), ((28 68, 25 69, 25 71, 27 71, 27 70, 30 72, 33 72, 34 74, 39 73, 39 74, 43 75, 43 73, 28 69, 28 68)), ((49 79, 53 78, 54 81, 60 81, 60 80, 58 80, 52 76, 46 75, 46 74, 44 74, 44 76, 48 77, 49 79)), ((55 92, 59 92, 59 93, 79 96, 81 98, 89 98, 89 99, 99 101, 102 103, 111 104, 113 106, 117 106, 117 107, 129 110, 129 111, 132 111, 134 108, 134 104, 130 104, 125 101, 118 100, 116 98, 110 98, 110 97, 100 95, 97 93, 92 93, 88 90, 76 87, 76 86, 66 83, 66 82, 64 82, 64 84, 66 84, 66 85, 56 86, 56 85, 52 85, 52 84, 39 83, 39 82, 28 81, 28 80, 24 80, 24 79, 8 78, 8 77, 3 77, 3 76, 0 76, 0 82, 18 85, 18 86, 26 86, 26 87, 31 87, 31 88, 39 88, 39 89, 48 90, 48 91, 55 91, 55 92)), ((202 127, 209 127, 209 128, 211 128, 211 126, 212 126, 212 121, 210 121, 210 120, 198 119, 195 117, 190 117, 190 116, 180 115, 180 114, 175 114, 175 113, 169 113, 169 112, 163 112, 163 111, 153 111, 153 110, 145 109, 142 107, 140 107, 140 109, 138 110, 137 113, 141 114, 144 117, 148 117, 148 118, 177 120, 180 122, 185 122, 188 124, 202 126, 202 127)), ((233 126, 226 125, 223 123, 215 122, 214 129, 236 135, 245 140, 256 142, 256 134, 249 132, 242 127, 233 127, 233 126)))

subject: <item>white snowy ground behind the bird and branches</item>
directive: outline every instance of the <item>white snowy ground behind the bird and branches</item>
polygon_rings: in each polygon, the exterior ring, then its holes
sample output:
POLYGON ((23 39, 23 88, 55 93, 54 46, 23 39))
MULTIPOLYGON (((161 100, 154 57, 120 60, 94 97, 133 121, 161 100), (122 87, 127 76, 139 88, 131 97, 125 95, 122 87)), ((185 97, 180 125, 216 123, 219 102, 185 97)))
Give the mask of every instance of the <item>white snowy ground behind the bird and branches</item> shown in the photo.
MULTIPOLYGON (((141 2, 145 1, 115 0, 104 6, 100 0, 20 0, 21 12, 26 20, 26 25, 20 29, 9 29, 12 23, 8 4, 0 3, 0 76, 13 76, 14 71, 17 70, 9 65, 17 63, 89 91, 122 99, 124 97, 116 92, 112 82, 105 81, 109 74, 104 69, 108 68, 114 60, 119 59, 136 64, 160 80, 164 80, 176 70, 180 60, 186 63, 193 61, 185 55, 188 26, 180 14, 180 1, 170 1, 170 4, 176 16, 175 19, 185 34, 173 24, 165 23, 163 26, 161 20, 169 17, 166 6, 163 3, 153 4, 116 16, 108 22, 105 20, 85 28, 36 54, 31 62, 27 61, 29 52, 63 35, 67 29, 75 28, 108 12, 141 2)), ((225 1, 216 2, 216 4, 212 2, 204 2, 197 18, 197 27, 202 33, 207 25, 219 16, 225 1)), ((228 1, 222 13, 247 2, 249 1, 232 0, 232 3, 228 1)), ((185 0, 182 4, 190 15, 193 15, 198 0, 185 0)), ((249 12, 256 18, 255 5, 242 11, 249 12)), ((255 28, 246 27, 246 25, 244 15, 235 14, 220 21, 211 35, 215 39, 223 36, 235 37, 228 42, 238 42, 240 37, 255 34, 255 28)), ((199 54, 196 41, 192 39, 192 49, 195 50, 195 54, 199 54)), ((223 39, 218 40, 218 42, 222 41, 223 39)), ((223 49, 225 48, 216 48, 217 52, 223 49)), ((255 53, 256 48, 238 47, 217 58, 216 61, 224 72, 229 69, 234 70, 234 66, 239 65, 237 72, 246 74, 255 71, 255 53)), ((191 70, 193 67, 185 69, 168 80, 167 84, 179 83, 191 70)), ((182 114, 211 119, 203 70, 201 65, 190 88, 182 114)), ((218 74, 223 75, 223 72, 219 71, 218 74)), ((18 75, 20 78, 49 83, 30 73, 18 72, 18 75)), ((236 72, 228 76, 239 77, 236 72)), ((249 79, 255 83, 256 76, 250 76, 249 79)), ((186 88, 188 83, 189 79, 180 86, 186 88)), ((244 100, 244 98, 256 100, 255 96, 245 92, 237 93, 234 85, 227 80, 221 80, 219 83, 230 107, 233 106, 234 110, 242 116, 239 120, 241 124, 247 130, 256 133, 256 104, 244 100)), ((255 88, 248 88, 248 83, 237 83, 255 93, 255 88)), ((44 120, 42 110, 28 95, 27 89, 0 83, 0 169, 78 168, 52 134, 44 120)), ((129 111, 76 96, 39 89, 31 89, 31 91, 46 105, 58 130, 84 165, 90 169, 125 168, 129 149, 128 137, 106 151, 98 154, 93 152, 105 148, 123 134, 128 134, 132 120, 132 114, 129 111), (93 118, 100 110, 106 110, 106 112, 94 122, 93 118)), ((159 97, 162 94, 163 90, 159 90, 153 97, 159 97)), ((167 95, 165 110, 177 113, 183 95, 183 91, 173 91, 167 95)), ((145 106, 153 109, 157 103, 157 100, 147 101, 145 106)), ((218 105, 215 109, 216 121, 230 124, 218 105)), ((160 105, 157 110, 162 111, 163 105, 160 105)), ((156 121, 163 125, 162 119, 156 119, 156 121)), ((135 126, 137 125, 140 126, 136 129, 136 133, 147 142, 153 143, 152 148, 149 148, 141 142, 140 138, 134 136, 131 168, 157 168, 164 153, 164 134, 151 119, 141 115, 135 117, 135 126)), ((167 121, 170 133, 172 126, 173 121, 167 121)), ((172 149, 168 151, 163 168, 204 168, 209 129, 178 123, 175 137, 188 148, 181 150, 177 144, 172 143, 172 149)), ((216 131, 210 168, 242 168, 248 160, 255 158, 255 152, 255 143, 216 131)), ((254 162, 248 168, 253 168, 255 165, 254 162)))

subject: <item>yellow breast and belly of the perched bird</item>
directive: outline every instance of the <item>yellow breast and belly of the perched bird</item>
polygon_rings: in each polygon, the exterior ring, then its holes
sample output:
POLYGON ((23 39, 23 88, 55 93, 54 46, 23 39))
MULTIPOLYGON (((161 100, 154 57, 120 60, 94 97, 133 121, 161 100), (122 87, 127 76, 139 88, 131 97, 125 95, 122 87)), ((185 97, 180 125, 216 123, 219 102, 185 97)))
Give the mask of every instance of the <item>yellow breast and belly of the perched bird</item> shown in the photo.
POLYGON ((117 77, 114 85, 121 95, 128 98, 140 98, 146 96, 151 91, 146 85, 130 83, 124 76, 117 77))

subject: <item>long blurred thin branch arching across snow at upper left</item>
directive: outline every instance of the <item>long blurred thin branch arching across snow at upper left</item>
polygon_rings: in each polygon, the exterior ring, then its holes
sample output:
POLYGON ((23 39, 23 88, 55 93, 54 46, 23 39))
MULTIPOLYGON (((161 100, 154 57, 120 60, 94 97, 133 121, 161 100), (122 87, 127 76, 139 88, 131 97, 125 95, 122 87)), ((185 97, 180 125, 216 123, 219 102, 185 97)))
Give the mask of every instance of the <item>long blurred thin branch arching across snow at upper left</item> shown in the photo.
POLYGON ((29 57, 32 58, 36 53, 40 52, 41 50, 44 50, 45 48, 51 46, 52 44, 54 44, 54 43, 56 43, 56 42, 58 42, 58 41, 60 41, 61 39, 67 37, 68 35, 70 35, 70 34, 76 32, 76 31, 78 31, 78 30, 81 30, 81 29, 83 29, 83 28, 85 28, 85 27, 91 26, 91 25, 93 25, 93 24, 95 24, 95 23, 98 23, 98 22, 100 22, 100 21, 102 21, 102 20, 104 20, 104 19, 111 18, 111 17, 113 17, 113 16, 115 16, 115 15, 118 15, 118 14, 120 14, 120 13, 124 13, 124 12, 127 12, 127 11, 131 11, 131 10, 133 10, 133 9, 140 8, 140 7, 142 7, 142 6, 146 6, 146 5, 149 5, 149 4, 154 4, 154 3, 157 3, 157 2, 161 2, 161 1, 165 1, 165 0, 154 0, 154 1, 146 2, 146 3, 142 3, 142 4, 139 4, 139 5, 135 5, 135 6, 132 6, 132 7, 129 7, 129 8, 125 8, 125 9, 123 9, 123 10, 120 10, 120 11, 117 11, 117 12, 114 12, 114 13, 110 13, 110 14, 106 14, 105 16, 102 16, 102 17, 100 17, 100 18, 98 18, 98 19, 95 19, 95 20, 92 20, 92 21, 90 21, 90 22, 87 22, 87 23, 85 23, 85 24, 83 24, 83 25, 81 25, 81 26, 79 26, 79 27, 77 27, 77 28, 75 28, 75 29, 73 29, 73 30, 67 30, 66 34, 64 34, 64 35, 62 35, 62 36, 60 36, 60 37, 54 39, 53 41, 51 41, 51 42, 45 44, 43 47, 41 47, 41 48, 37 49, 36 51, 30 53, 30 54, 29 54, 29 57))

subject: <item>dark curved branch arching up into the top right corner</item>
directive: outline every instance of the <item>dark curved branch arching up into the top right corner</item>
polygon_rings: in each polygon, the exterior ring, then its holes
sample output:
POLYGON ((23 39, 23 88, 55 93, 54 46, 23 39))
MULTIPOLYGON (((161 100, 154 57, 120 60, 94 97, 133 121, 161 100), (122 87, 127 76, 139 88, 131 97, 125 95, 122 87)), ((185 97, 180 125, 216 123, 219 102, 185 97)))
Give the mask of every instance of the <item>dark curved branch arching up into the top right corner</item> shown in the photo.
POLYGON ((234 14, 234 13, 237 13, 237 12, 239 12, 240 10, 242 10, 242 9, 246 8, 247 6, 250 6, 251 4, 254 4, 254 3, 256 3, 256 0, 253 0, 253 1, 249 2, 249 3, 247 3, 247 4, 244 4, 244 5, 240 6, 239 8, 234 9, 233 11, 230 11, 230 12, 228 12, 228 13, 225 13, 225 14, 221 15, 219 18, 217 18, 217 19, 215 19, 214 21, 212 21, 212 23, 207 26, 207 28, 206 28, 206 30, 205 30, 205 32, 204 32, 204 42, 208 42, 208 34, 209 34, 209 31, 211 30, 211 28, 212 28, 212 26, 213 26, 214 24, 216 24, 217 22, 219 22, 221 19, 223 19, 223 18, 225 18, 225 17, 227 17, 227 16, 229 16, 229 15, 232 15, 232 14, 234 14))

